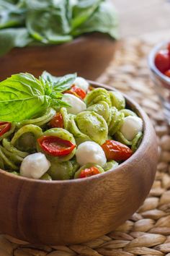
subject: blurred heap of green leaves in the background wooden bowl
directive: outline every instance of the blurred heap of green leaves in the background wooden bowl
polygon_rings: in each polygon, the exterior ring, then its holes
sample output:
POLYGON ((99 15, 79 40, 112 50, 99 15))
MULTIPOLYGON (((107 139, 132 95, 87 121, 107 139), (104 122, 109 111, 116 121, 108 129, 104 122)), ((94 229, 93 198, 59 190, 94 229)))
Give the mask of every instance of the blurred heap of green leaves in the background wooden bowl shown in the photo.
POLYGON ((109 0, 0 0, 0 56, 12 48, 66 43, 98 31, 117 38, 109 0))

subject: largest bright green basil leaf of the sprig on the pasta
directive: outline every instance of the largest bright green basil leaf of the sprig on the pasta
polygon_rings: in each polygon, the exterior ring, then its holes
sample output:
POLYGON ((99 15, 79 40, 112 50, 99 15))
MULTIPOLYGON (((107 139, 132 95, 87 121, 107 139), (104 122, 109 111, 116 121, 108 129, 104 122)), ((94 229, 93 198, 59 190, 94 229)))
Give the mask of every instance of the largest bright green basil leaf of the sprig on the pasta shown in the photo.
POLYGON ((40 81, 31 74, 14 74, 0 82, 0 120, 22 121, 40 115, 50 106, 40 81))

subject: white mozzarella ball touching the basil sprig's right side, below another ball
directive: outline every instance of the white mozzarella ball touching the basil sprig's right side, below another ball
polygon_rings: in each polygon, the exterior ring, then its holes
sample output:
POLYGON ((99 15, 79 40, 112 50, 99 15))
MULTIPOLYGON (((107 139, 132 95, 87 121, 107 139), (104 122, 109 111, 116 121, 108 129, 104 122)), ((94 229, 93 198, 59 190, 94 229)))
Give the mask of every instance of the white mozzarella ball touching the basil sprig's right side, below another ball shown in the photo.
POLYGON ((86 110, 86 104, 84 103, 84 101, 81 101, 80 98, 72 94, 65 93, 62 100, 71 106, 67 108, 67 111, 70 114, 79 114, 80 112, 86 110))

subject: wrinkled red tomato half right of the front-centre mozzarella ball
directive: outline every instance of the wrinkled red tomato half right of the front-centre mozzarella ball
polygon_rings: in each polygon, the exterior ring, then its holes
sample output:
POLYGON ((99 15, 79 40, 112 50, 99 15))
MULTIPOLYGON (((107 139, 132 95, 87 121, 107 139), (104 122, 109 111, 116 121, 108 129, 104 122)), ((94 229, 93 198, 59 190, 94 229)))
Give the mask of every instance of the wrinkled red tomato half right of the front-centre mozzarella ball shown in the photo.
POLYGON ((133 154, 133 151, 128 148, 128 146, 115 140, 107 140, 102 145, 102 149, 104 150, 107 160, 127 160, 133 154))

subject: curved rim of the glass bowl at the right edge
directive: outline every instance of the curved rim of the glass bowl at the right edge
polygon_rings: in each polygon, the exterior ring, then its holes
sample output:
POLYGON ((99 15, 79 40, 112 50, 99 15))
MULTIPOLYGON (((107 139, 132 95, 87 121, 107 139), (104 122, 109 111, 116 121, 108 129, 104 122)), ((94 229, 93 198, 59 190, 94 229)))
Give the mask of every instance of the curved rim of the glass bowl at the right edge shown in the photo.
POLYGON ((158 77, 159 79, 161 79, 164 83, 168 84, 166 87, 170 87, 170 77, 167 77, 165 74, 161 73, 156 65, 155 65, 155 56, 157 54, 157 52, 159 50, 161 50, 161 48, 165 48, 168 43, 170 43, 170 40, 165 40, 161 43, 156 44, 156 46, 154 46, 150 52, 150 54, 148 55, 148 67, 149 69, 151 69, 151 72, 153 72, 153 74, 156 74, 156 77, 158 77))

